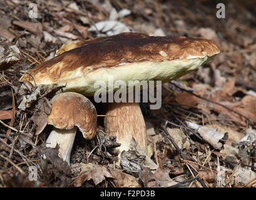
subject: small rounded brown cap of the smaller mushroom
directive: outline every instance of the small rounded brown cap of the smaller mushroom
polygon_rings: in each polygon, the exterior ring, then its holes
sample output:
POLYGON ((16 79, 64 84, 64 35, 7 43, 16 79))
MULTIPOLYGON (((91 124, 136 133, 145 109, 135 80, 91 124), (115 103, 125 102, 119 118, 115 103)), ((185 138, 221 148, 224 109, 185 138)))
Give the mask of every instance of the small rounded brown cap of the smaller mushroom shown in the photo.
POLYGON ((48 124, 58 129, 77 126, 85 139, 95 136, 97 113, 89 99, 78 93, 61 93, 51 99, 51 104, 48 124))

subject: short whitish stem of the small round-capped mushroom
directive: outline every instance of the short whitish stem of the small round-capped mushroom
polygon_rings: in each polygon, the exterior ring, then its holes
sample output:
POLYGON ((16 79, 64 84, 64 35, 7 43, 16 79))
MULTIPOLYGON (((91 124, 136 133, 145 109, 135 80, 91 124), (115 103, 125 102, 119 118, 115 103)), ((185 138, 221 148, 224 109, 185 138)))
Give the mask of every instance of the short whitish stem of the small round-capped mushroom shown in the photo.
POLYGON ((59 144, 59 157, 70 165, 70 156, 76 137, 77 127, 72 129, 53 128, 46 140, 47 148, 55 148, 59 144))

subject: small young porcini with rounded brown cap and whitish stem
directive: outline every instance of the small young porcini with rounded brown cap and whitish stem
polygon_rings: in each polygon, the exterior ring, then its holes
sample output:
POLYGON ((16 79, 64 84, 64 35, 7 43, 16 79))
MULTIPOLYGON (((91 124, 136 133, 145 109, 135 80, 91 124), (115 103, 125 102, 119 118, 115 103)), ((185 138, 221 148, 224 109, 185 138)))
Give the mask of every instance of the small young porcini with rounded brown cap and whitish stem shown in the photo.
POLYGON ((48 124, 54 126, 46 140, 46 147, 59 145, 59 156, 70 164, 70 155, 77 128, 85 139, 96 134, 97 114, 89 99, 78 93, 61 93, 51 99, 48 124))

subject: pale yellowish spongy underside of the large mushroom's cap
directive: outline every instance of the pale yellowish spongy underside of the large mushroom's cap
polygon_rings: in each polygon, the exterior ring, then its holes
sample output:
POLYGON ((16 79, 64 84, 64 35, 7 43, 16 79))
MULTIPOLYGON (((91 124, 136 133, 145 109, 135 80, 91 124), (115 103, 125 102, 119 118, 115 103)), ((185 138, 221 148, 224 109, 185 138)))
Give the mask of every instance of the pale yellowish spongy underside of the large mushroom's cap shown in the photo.
MULTIPOLYGON (((87 66, 86 69, 81 66, 73 71, 63 73, 56 81, 51 80, 47 75, 44 76, 44 74, 36 76, 43 78, 41 79, 43 80, 42 84, 54 83, 58 86, 65 86, 63 88, 65 92, 73 91, 86 96, 94 96, 95 92, 99 89, 104 89, 105 86, 108 89, 110 81, 113 81, 115 84, 116 81, 122 80, 127 85, 128 81, 159 80, 162 83, 172 81, 194 71, 212 59, 212 57, 204 56, 202 58, 173 59, 168 61, 138 61, 95 70, 91 70, 90 66, 87 66), (95 83, 97 84, 95 85, 95 83)), ((53 66, 51 71, 54 71, 55 68, 58 68, 58 64, 53 66)))

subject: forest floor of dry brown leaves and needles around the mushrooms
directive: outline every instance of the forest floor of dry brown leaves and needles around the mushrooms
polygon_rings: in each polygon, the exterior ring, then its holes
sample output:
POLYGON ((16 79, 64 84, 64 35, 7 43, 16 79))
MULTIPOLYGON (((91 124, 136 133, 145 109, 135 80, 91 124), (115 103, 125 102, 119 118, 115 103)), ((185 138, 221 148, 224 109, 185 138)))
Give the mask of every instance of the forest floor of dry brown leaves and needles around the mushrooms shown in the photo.
MULTIPOLYGON (((1 1, 0 64, 10 55, 14 61, 0 68, 0 187, 255 187, 256 4, 222 2, 1 1), (97 22, 105 29, 95 29, 97 22), (36 117, 39 99, 18 108, 31 94, 19 78, 62 44, 128 31, 204 37, 220 54, 163 84, 160 109, 140 104, 148 162, 137 152, 130 160, 136 170, 114 168, 104 148, 113 141, 97 133, 92 141, 77 134, 68 166, 58 149, 44 146, 51 126, 36 133, 47 123, 36 117)), ((52 92, 44 96, 50 100, 52 92)))

